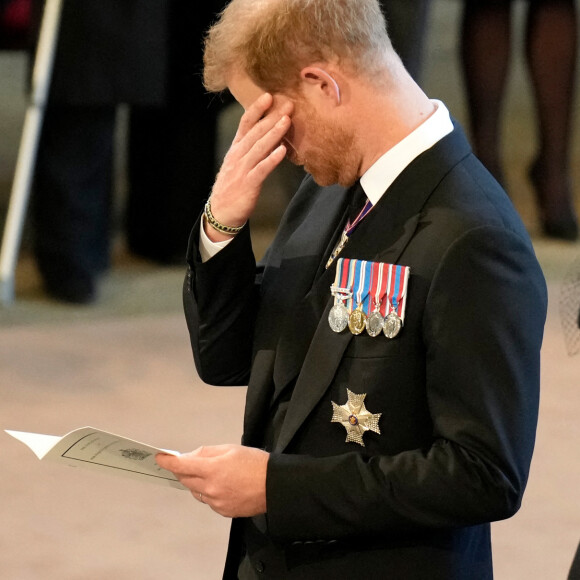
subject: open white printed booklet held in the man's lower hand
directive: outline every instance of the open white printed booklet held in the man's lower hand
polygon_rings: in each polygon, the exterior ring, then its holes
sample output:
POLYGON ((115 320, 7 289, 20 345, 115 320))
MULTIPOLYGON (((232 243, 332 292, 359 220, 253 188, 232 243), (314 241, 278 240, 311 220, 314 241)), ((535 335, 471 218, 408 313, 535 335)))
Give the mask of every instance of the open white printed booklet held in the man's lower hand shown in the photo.
POLYGON ((5 431, 30 447, 38 459, 187 489, 173 473, 155 462, 157 453, 179 455, 177 451, 152 447, 93 427, 81 427, 63 437, 5 431))

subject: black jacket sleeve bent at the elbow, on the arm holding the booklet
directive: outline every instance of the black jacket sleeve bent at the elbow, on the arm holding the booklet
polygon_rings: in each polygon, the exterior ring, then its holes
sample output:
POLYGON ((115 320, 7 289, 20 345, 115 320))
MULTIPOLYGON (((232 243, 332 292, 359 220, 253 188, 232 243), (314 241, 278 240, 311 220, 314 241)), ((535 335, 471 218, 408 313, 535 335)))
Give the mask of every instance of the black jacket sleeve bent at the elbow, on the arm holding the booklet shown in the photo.
POLYGON ((545 315, 544 278, 525 240, 496 227, 460 237, 424 311, 431 444, 394 456, 272 455, 270 533, 329 540, 513 515, 534 446, 545 315))

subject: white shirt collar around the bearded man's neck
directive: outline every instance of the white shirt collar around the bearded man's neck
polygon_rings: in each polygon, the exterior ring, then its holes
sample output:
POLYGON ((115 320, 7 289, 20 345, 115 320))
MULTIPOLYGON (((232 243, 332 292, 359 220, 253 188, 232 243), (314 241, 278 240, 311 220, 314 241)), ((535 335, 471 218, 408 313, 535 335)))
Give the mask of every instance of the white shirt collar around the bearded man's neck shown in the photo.
POLYGON ((411 161, 453 131, 447 107, 435 99, 431 102, 436 107, 435 112, 375 161, 361 177, 362 188, 373 205, 377 204, 411 161))

